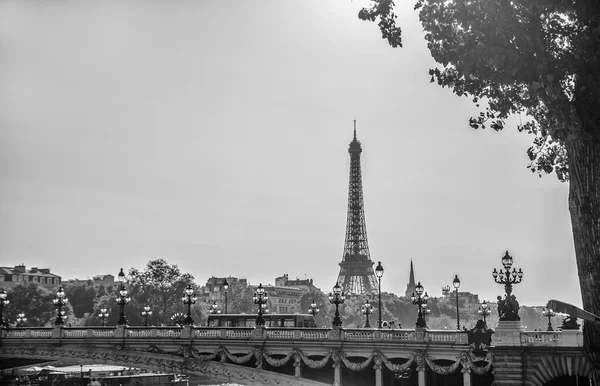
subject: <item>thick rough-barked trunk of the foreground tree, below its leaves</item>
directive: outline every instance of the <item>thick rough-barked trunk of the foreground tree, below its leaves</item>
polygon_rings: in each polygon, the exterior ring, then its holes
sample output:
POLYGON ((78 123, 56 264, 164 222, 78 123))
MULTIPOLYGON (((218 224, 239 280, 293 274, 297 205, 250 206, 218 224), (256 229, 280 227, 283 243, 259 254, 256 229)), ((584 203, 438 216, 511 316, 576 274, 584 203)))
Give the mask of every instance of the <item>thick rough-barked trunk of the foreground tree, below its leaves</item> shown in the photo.
MULTIPOLYGON (((600 315, 600 142, 567 141, 569 211, 583 308, 600 315)), ((568 288, 564 288, 568 291, 568 288)), ((600 379, 600 323, 586 322, 584 345, 600 379)))

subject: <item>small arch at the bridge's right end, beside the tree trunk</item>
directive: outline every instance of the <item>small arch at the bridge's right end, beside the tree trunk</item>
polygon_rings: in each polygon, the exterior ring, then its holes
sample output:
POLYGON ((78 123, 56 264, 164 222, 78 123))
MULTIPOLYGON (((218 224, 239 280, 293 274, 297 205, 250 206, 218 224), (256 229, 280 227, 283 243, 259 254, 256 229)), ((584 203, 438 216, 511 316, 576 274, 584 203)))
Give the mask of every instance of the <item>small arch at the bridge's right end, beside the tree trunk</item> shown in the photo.
MULTIPOLYGON (((592 368, 585 356, 542 355, 533 361, 535 364, 531 366, 530 376, 526 377, 527 386, 557 385, 556 379, 569 382, 569 379, 572 378, 573 382, 576 382, 577 377, 588 379, 592 377, 592 368)), ((569 383, 560 384, 568 385, 569 383)))

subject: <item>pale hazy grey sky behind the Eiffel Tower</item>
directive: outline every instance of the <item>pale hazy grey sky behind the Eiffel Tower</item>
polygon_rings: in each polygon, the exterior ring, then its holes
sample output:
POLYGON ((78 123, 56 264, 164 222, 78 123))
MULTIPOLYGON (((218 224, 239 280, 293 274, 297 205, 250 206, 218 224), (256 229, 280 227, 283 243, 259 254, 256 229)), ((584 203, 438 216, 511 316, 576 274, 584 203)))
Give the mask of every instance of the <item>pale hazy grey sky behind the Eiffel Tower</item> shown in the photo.
MULTIPOLYGON (((210 276, 329 291, 342 258, 352 120, 384 291, 410 259, 430 295, 495 299, 508 249, 522 304, 581 304, 568 186, 527 168, 531 137, 475 131, 429 83, 411 2, 403 49, 364 3, 0 3, 0 264, 63 279, 164 258, 210 276)), ((524 117, 523 117, 524 118, 524 117)))

